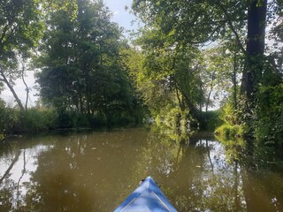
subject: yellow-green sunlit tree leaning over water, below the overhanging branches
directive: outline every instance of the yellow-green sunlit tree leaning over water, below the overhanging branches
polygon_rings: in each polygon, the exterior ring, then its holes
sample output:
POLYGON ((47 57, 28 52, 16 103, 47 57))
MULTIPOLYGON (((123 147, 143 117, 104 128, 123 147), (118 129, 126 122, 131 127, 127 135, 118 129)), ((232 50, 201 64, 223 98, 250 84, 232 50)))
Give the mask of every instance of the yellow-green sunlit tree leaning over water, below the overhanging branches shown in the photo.
POLYGON ((197 108, 204 100, 197 61, 200 51, 189 45, 173 47, 169 41, 170 36, 155 29, 142 34, 136 41, 142 52, 129 52, 130 75, 153 117, 164 108, 180 108, 198 119, 197 108), (139 63, 134 63, 136 58, 139 63))

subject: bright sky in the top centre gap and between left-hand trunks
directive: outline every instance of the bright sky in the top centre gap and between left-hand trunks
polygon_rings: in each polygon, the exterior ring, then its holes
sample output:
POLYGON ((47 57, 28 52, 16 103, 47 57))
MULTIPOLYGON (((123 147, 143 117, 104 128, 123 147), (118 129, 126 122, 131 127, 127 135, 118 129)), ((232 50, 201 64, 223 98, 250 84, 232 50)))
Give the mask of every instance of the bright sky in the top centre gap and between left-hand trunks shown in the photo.
MULTIPOLYGON (((112 12, 112 21, 119 24, 119 27, 123 27, 125 29, 124 34, 127 36, 127 30, 133 30, 137 28, 137 24, 132 25, 135 17, 129 11, 125 10, 125 7, 131 8, 133 0, 103 0, 104 4, 110 9, 112 12)), ((28 100, 29 106, 34 106, 38 97, 36 94, 38 91, 34 88, 34 72, 27 71, 26 77, 27 86, 30 87, 30 95, 28 100)), ((14 87, 16 93, 19 95, 19 99, 25 104, 26 101, 26 87, 21 79, 16 80, 16 86, 14 87)), ((5 87, 4 91, 0 93, 0 97, 4 99, 10 105, 15 105, 15 101, 13 96, 11 95, 11 91, 5 87)))

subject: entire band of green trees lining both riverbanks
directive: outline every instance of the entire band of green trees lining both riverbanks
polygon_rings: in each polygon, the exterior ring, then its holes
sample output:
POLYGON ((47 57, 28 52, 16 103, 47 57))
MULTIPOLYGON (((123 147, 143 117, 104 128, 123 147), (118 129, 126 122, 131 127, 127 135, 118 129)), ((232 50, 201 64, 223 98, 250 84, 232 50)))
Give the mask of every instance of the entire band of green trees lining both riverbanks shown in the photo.
POLYGON ((207 129, 218 103, 226 134, 282 146, 279 0, 134 0, 144 26, 131 44, 102 1, 0 6, 1 85, 23 114, 13 82, 38 68, 41 101, 55 114, 48 119, 62 127, 138 122, 144 102, 157 122, 207 129), (275 49, 265 47, 267 27, 275 49))

